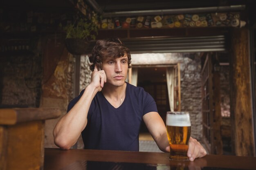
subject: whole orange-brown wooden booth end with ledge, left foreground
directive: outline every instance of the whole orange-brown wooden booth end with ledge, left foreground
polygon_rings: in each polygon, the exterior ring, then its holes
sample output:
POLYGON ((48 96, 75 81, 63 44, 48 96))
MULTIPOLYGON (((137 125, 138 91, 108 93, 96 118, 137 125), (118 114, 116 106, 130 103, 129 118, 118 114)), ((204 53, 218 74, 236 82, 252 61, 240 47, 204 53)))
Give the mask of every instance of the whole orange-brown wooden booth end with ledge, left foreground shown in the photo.
POLYGON ((0 170, 43 170, 45 119, 54 108, 0 109, 0 170))

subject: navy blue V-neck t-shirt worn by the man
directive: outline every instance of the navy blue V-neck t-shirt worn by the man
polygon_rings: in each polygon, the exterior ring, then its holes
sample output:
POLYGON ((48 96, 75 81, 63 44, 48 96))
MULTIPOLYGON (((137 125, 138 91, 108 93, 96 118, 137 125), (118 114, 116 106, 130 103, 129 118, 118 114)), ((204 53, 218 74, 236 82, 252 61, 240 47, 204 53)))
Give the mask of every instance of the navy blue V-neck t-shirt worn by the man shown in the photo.
MULTIPOLYGON (((85 149, 139 151, 139 128, 142 117, 157 112, 153 97, 141 87, 127 83, 124 102, 118 108, 112 106, 101 92, 92 100, 88 111, 88 123, 82 131, 85 149)), ((74 98, 69 111, 80 99, 74 98)))

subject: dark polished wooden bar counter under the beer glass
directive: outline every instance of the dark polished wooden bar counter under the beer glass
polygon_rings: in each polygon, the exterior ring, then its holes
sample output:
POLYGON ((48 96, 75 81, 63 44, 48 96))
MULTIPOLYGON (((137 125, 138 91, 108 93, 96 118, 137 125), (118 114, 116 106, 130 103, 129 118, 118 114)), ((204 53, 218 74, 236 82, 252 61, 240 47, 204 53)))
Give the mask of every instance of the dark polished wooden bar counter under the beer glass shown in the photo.
POLYGON ((44 170, 256 170, 256 157, 206 155, 170 161, 169 153, 45 148, 44 170))

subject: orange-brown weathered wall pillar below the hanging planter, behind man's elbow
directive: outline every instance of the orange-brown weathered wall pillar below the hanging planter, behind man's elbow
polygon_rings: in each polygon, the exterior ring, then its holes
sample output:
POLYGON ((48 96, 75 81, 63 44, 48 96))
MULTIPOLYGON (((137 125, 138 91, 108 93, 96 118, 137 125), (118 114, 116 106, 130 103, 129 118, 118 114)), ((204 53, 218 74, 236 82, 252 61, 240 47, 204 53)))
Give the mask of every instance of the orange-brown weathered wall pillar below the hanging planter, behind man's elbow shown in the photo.
MULTIPOLYGON (((40 107, 58 108, 61 117, 67 113, 67 105, 74 98, 74 57, 68 53, 64 42, 64 38, 58 35, 47 35, 42 39, 44 73, 40 107)), ((57 147, 52 132, 58 119, 45 121, 47 148, 57 147)))

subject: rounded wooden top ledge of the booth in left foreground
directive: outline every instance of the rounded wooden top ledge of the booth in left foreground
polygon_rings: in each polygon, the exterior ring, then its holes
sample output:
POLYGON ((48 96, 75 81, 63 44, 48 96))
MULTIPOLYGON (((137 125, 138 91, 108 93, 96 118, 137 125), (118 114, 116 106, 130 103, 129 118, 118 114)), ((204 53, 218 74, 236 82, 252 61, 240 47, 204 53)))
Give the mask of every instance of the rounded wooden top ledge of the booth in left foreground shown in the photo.
POLYGON ((18 122, 54 119, 61 115, 55 108, 14 108, 0 109, 0 124, 12 125, 18 122))

